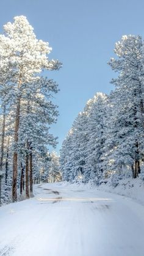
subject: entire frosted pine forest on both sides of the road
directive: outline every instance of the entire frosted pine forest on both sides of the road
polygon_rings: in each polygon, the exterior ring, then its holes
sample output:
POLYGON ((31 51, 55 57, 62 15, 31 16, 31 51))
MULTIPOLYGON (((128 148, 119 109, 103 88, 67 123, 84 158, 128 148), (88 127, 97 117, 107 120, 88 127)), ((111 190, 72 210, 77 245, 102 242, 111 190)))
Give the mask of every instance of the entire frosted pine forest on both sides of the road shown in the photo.
POLYGON ((60 157, 49 153, 49 133, 59 112, 52 102, 57 83, 44 76, 59 70, 52 48, 38 40, 25 16, 15 16, 0 35, 1 163, 0 205, 33 196, 33 184, 68 181, 117 186, 144 178, 144 47, 139 35, 115 44, 115 89, 87 101, 63 141, 60 157))

